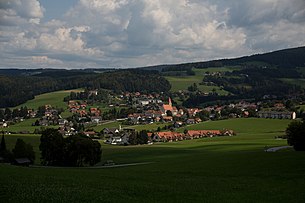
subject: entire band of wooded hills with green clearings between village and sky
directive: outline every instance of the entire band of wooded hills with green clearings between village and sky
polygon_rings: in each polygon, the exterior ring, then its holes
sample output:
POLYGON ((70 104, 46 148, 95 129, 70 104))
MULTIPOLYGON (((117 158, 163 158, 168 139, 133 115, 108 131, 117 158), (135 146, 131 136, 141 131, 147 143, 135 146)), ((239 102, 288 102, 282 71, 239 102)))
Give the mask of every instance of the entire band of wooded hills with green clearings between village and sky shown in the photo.
MULTIPOLYGON (((167 93, 169 90, 187 90, 194 83, 200 85, 198 89, 206 94, 216 92, 222 96, 233 95, 233 99, 260 99, 268 94, 278 97, 288 94, 298 96, 305 87, 304 79, 305 47, 235 59, 132 70, 0 69, 0 108, 18 106, 36 95, 59 90, 104 88, 116 92, 167 93), (211 71, 211 67, 218 71, 211 71), (206 77, 206 72, 221 74, 220 77, 206 77)), ((204 100, 219 99, 214 96, 204 100)), ((222 100, 227 100, 227 97, 222 100)), ((201 103, 200 98, 186 102, 194 105, 201 103)))

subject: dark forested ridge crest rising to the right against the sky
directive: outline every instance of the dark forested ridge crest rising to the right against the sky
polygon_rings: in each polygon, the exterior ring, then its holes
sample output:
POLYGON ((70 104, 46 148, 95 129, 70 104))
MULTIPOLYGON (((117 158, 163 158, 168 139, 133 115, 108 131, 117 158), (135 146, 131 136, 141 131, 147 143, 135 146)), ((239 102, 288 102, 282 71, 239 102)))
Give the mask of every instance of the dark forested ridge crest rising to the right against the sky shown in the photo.
POLYGON ((276 66, 279 68, 305 67, 305 47, 284 49, 264 54, 255 54, 234 59, 219 59, 205 62, 192 62, 183 64, 169 64, 143 67, 146 70, 181 71, 191 68, 208 68, 222 66, 238 66, 253 63, 276 66))

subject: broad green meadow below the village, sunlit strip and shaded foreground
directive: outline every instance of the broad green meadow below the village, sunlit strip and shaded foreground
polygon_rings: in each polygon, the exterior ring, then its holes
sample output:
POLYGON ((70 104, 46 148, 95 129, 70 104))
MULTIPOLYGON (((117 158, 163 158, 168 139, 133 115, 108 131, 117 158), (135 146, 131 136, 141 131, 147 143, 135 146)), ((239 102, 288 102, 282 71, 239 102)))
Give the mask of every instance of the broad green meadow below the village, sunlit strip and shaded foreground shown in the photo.
MULTIPOLYGON (((5 202, 304 202, 305 153, 264 152, 288 120, 234 119, 190 129, 223 129, 216 137, 149 146, 103 145, 103 160, 152 162, 108 169, 22 168, 0 164, 5 202)), ((7 136, 7 145, 17 135, 7 136)), ((23 136, 35 149, 39 137, 23 136)))

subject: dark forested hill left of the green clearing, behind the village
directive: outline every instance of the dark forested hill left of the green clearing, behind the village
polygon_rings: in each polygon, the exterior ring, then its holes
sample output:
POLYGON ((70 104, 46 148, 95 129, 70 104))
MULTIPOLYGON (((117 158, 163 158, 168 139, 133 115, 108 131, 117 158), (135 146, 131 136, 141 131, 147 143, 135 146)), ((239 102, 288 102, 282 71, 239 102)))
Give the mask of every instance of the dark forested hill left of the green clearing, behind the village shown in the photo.
POLYGON ((167 92, 171 86, 159 74, 140 70, 117 70, 104 73, 86 70, 72 72, 51 70, 35 75, 0 74, 0 108, 17 106, 38 94, 75 88, 104 88, 116 92, 167 92))

